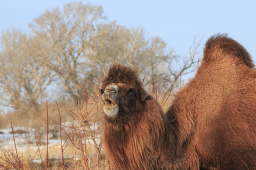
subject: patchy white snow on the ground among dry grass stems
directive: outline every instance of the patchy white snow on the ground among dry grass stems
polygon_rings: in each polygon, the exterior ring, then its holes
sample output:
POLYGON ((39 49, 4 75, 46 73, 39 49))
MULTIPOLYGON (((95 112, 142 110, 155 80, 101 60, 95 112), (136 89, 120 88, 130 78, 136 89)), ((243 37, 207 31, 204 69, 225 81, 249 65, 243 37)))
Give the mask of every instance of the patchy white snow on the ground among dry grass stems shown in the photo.
MULTIPOLYGON (((69 127, 76 127, 78 129, 81 129, 82 127, 79 127, 78 125, 74 124, 74 122, 66 122, 65 124, 63 124, 63 129, 65 129, 65 131, 67 132, 71 132, 74 131, 72 129, 70 129, 69 127)), ((99 129, 99 124, 93 124, 93 125, 89 125, 88 129, 90 129, 90 131, 95 131, 97 129, 99 129)), ((50 127, 49 127, 50 128, 50 127)), ((83 129, 83 128, 82 128, 83 129)), ((23 133, 19 134, 19 133, 15 133, 14 134, 14 138, 15 138, 15 144, 17 146, 17 150, 19 153, 25 153, 28 152, 28 148, 32 149, 32 150, 38 150, 38 146, 36 145, 36 140, 35 140, 35 129, 32 129, 30 127, 13 127, 13 131, 20 131, 22 130, 23 133)), ((20 131, 20 132, 22 132, 20 131)), ((44 130, 45 131, 45 130, 44 130)), ((89 131, 89 130, 88 130, 89 131)), ((62 134, 64 135, 65 133, 62 132, 62 134)), ((57 134, 57 136, 59 136, 60 134, 57 134)), ((61 146, 61 141, 60 141, 60 137, 58 137, 57 139, 51 139, 52 134, 49 133, 49 147, 54 146, 54 145, 58 145, 58 147, 61 146)), ((38 139, 37 139, 38 140, 38 139)), ((101 142, 100 139, 100 135, 98 134, 95 138, 95 141, 97 143, 97 145, 99 145, 99 143, 101 142)), ((47 133, 45 133, 41 139, 41 143, 47 143, 47 133)), ((65 140, 62 140, 62 143, 65 143, 65 140)), ((90 145, 94 145, 94 142, 92 139, 86 139, 86 143, 90 144, 90 145)), ((69 145, 72 145, 71 143, 69 145)), ((47 147, 47 145, 40 145, 40 150, 45 149, 47 147)), ((55 147, 55 146, 54 146, 55 147)), ((13 134, 12 134, 12 129, 0 129, 0 153, 1 150, 15 150, 15 145, 14 145, 14 141, 13 141, 13 134)), ((70 156, 70 155, 64 155, 63 157, 64 159, 74 159, 74 160, 78 160, 77 156, 70 156)), ((45 157, 42 157, 42 160, 44 161, 45 157)), ((51 157, 50 159, 62 159, 62 157, 58 157, 58 156, 54 156, 51 157)), ((41 164, 42 163, 41 159, 38 159, 38 157, 35 157, 32 161, 37 163, 37 164, 41 164)))

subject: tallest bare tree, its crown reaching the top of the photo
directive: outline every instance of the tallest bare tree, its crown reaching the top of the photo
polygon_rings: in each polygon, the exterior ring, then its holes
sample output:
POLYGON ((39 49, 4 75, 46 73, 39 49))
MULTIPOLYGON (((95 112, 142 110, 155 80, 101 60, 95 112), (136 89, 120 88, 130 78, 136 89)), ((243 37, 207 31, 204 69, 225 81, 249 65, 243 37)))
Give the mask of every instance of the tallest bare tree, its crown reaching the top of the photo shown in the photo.
POLYGON ((83 3, 70 3, 63 12, 56 8, 45 11, 30 24, 33 33, 45 46, 44 64, 64 91, 74 101, 79 99, 86 73, 86 52, 96 34, 96 24, 104 19, 102 8, 83 3))

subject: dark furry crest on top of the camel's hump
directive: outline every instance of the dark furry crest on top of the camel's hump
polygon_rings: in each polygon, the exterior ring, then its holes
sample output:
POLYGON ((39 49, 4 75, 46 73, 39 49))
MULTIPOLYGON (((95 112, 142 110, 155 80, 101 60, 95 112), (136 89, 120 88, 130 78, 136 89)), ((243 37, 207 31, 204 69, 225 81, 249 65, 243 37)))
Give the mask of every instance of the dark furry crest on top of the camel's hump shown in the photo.
POLYGON ((237 57, 242 64, 253 67, 250 53, 237 43, 234 39, 228 38, 226 34, 217 34, 212 36, 205 43, 204 58, 205 61, 221 60, 223 57, 237 57))

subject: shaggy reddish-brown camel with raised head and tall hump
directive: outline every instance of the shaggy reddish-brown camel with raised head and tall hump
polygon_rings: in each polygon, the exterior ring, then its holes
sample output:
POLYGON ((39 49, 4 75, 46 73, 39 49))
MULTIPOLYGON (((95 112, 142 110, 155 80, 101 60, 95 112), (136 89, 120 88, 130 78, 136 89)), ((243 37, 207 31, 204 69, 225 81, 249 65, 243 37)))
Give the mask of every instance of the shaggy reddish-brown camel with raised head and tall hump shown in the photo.
POLYGON ((131 67, 102 80, 103 142, 115 169, 256 169, 256 70, 225 35, 163 112, 131 67))

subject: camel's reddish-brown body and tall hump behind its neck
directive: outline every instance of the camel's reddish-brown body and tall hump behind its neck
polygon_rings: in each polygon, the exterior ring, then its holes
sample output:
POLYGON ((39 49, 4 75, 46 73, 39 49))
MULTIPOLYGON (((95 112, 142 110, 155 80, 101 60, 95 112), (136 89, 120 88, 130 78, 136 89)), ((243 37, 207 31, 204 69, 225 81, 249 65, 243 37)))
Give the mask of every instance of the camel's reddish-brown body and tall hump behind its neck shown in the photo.
MULTIPOLYGON (((256 169, 256 71, 243 46, 210 38, 196 76, 167 111, 184 155, 201 167, 256 169)), ((189 167, 189 165, 187 166, 189 167)))

